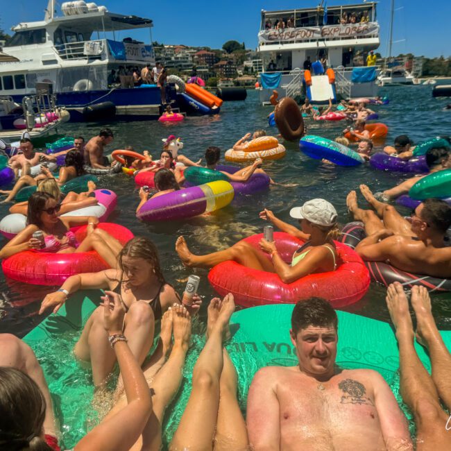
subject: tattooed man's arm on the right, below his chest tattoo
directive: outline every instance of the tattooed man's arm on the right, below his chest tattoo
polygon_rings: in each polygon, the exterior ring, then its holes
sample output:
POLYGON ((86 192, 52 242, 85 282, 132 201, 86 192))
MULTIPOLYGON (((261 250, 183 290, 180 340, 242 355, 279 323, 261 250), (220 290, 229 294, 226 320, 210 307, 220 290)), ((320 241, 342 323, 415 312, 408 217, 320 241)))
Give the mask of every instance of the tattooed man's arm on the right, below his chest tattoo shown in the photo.
POLYGON ((413 450, 407 420, 402 414, 389 385, 376 371, 373 374, 375 407, 379 416, 382 436, 388 451, 413 450))

